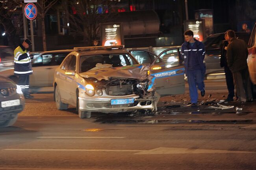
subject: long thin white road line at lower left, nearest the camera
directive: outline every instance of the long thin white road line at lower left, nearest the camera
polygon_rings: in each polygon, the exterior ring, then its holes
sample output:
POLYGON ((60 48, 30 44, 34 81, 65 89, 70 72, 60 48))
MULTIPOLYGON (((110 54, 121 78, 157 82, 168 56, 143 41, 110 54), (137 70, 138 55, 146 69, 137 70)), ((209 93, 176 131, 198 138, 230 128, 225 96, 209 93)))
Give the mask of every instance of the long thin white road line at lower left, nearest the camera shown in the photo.
POLYGON ((5 151, 88 151, 88 152, 143 152, 146 150, 110 150, 110 149, 3 149, 5 151))

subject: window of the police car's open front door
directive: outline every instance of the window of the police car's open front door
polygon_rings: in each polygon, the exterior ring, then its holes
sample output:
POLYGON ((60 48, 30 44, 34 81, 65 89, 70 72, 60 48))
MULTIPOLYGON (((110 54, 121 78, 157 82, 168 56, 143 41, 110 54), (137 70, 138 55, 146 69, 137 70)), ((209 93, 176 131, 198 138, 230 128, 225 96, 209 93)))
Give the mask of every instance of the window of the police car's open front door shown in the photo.
POLYGON ((164 62, 165 68, 179 66, 181 63, 178 49, 172 49, 172 50, 166 51, 160 56, 160 58, 162 60, 161 61, 157 60, 155 63, 164 62))

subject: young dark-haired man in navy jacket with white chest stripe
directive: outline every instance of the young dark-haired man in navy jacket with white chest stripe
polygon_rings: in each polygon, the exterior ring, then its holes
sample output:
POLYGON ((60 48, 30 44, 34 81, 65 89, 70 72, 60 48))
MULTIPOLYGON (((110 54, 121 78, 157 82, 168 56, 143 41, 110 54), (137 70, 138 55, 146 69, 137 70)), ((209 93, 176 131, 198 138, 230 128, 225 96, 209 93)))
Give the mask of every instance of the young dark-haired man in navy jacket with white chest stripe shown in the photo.
POLYGON ((194 39, 193 36, 194 34, 190 30, 184 33, 186 42, 182 44, 181 53, 184 58, 185 74, 189 84, 191 106, 197 107, 197 88, 200 90, 202 97, 205 95, 204 74, 206 68, 203 63, 205 50, 204 44, 194 39))

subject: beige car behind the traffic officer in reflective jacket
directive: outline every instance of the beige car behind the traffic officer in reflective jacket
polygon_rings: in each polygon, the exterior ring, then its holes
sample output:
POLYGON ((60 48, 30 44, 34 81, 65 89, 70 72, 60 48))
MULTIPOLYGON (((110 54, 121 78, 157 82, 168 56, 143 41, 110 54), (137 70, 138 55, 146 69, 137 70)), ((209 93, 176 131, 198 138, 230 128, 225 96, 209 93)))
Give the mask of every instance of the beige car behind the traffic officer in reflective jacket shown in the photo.
MULTIPOLYGON (((30 87, 52 86, 54 70, 71 51, 74 51, 74 49, 31 53, 33 56, 33 74, 30 75, 30 87)), ((18 77, 14 75, 13 69, 2 71, 1 75, 9 77, 16 83, 18 81, 18 77)))

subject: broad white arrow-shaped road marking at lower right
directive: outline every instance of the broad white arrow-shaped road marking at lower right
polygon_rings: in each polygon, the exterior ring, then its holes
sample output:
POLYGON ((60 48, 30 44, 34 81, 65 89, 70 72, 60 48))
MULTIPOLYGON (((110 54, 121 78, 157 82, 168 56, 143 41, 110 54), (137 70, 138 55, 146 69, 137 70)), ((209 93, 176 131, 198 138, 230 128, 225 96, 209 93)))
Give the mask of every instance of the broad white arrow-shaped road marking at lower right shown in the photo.
POLYGON ((239 154, 239 153, 255 153, 247 151, 231 151, 231 150, 213 150, 213 149, 189 149, 189 148, 155 148, 152 150, 147 150, 139 152, 136 154, 239 154))

